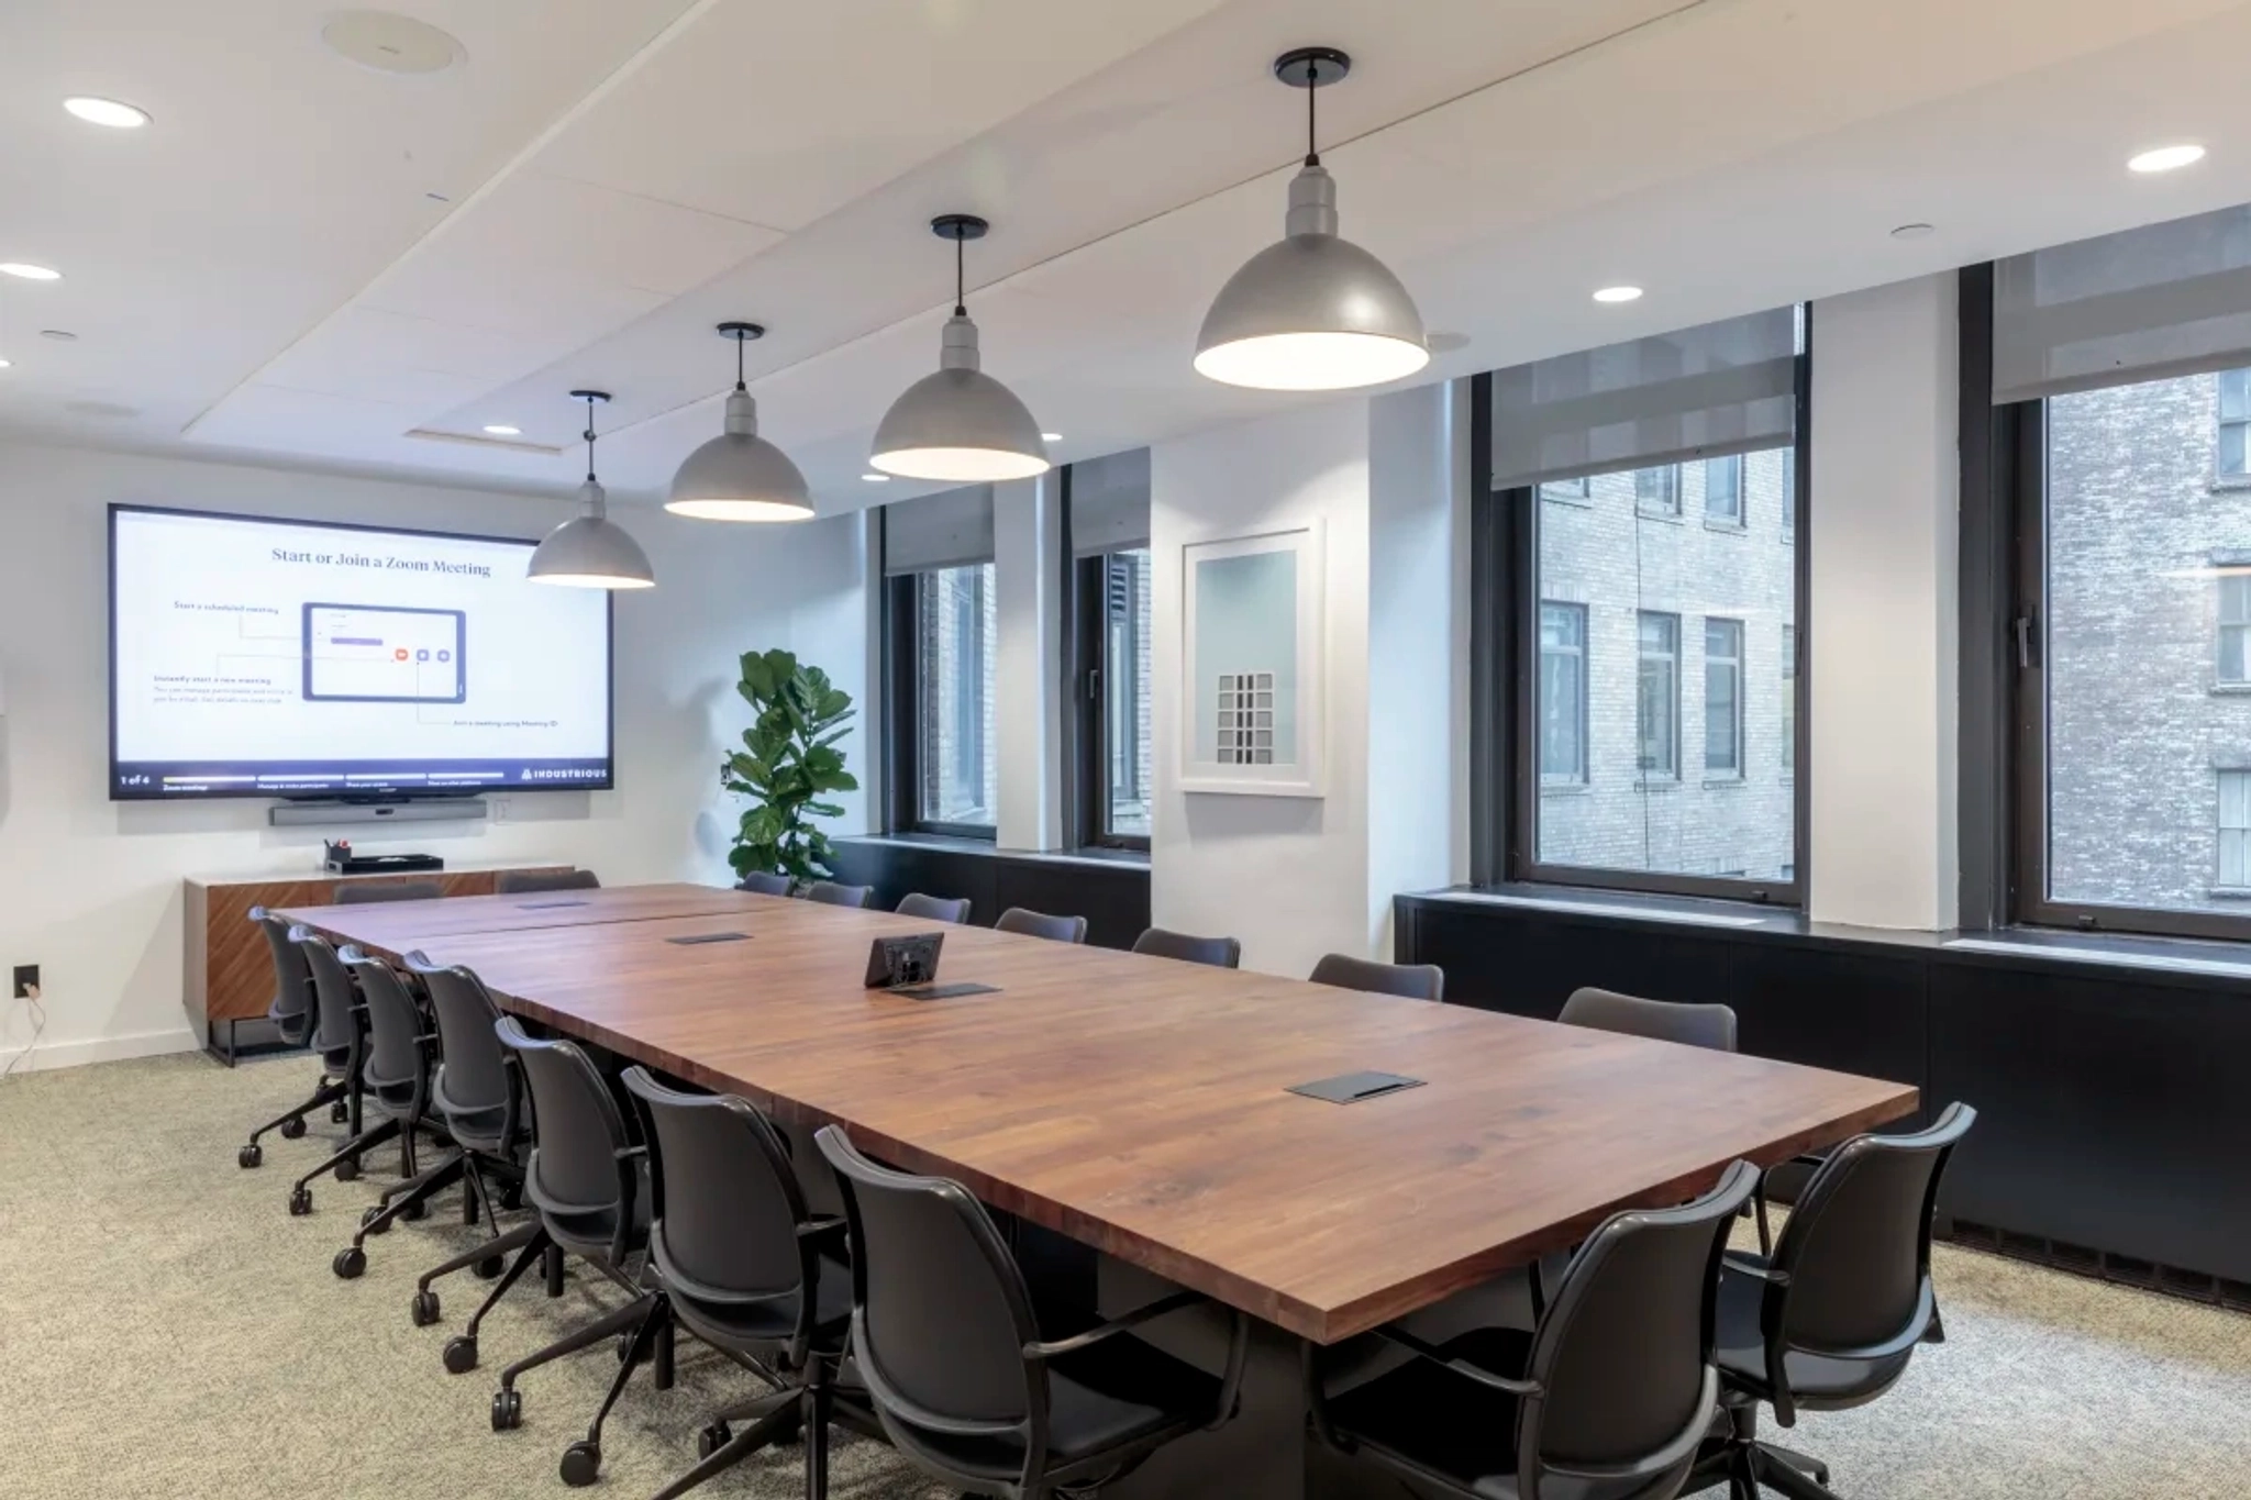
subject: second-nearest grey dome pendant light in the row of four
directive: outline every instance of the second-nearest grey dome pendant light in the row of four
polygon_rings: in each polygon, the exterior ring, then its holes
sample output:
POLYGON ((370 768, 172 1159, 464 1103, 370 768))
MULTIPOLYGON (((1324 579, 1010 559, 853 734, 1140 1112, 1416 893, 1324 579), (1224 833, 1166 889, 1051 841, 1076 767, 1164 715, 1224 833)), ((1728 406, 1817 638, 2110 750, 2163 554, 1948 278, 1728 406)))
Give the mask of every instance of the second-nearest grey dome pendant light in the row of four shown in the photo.
POLYGON ((930 232, 954 243, 954 315, 945 319, 939 371, 891 403, 876 427, 869 463, 907 479, 984 484, 1049 470, 1040 423, 993 376, 977 369, 977 324, 963 306, 961 245, 984 238, 975 214, 941 214, 930 232))

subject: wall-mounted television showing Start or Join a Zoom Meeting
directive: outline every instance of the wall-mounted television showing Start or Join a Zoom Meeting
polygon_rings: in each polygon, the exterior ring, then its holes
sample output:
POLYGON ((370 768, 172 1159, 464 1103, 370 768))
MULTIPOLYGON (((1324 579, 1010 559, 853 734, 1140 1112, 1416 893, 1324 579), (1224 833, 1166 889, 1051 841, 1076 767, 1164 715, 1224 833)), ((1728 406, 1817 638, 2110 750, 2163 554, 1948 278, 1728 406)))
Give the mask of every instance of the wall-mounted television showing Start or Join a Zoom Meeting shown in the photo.
POLYGON ((531 549, 110 506, 110 798, 610 787, 610 594, 531 549))

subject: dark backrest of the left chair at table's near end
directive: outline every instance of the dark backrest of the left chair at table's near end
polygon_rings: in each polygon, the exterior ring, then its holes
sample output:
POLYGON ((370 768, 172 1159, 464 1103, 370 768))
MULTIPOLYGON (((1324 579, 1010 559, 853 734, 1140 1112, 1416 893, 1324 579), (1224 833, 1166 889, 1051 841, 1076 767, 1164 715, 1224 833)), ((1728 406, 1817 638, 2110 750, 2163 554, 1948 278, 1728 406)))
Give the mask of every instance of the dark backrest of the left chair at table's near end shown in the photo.
POLYGON ((1738 1160, 1693 1203, 1612 1214, 1571 1257, 1533 1331, 1524 1374, 1540 1394, 1517 1406, 1526 1500, 1670 1496, 1686 1480, 1720 1397, 1720 1253, 1756 1185, 1738 1160))

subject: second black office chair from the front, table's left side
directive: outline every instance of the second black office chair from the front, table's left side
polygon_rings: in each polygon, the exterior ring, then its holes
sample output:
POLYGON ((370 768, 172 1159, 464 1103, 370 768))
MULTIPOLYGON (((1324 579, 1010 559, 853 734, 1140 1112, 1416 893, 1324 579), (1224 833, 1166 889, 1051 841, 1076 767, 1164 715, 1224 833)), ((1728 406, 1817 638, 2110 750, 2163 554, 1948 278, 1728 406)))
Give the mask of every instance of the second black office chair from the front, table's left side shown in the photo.
POLYGON ((675 1500, 792 1433, 806 1444, 806 1496, 819 1500, 828 1491, 831 1417, 876 1430, 864 1392, 846 1392, 837 1406, 837 1367, 851 1340, 844 1221, 813 1217, 788 1147, 745 1100, 678 1093, 637 1066, 626 1068, 626 1091, 648 1142, 648 1253, 673 1316, 774 1385, 720 1412, 696 1439, 700 1462, 657 1500, 675 1500), (752 1426, 736 1433, 736 1421, 752 1426))

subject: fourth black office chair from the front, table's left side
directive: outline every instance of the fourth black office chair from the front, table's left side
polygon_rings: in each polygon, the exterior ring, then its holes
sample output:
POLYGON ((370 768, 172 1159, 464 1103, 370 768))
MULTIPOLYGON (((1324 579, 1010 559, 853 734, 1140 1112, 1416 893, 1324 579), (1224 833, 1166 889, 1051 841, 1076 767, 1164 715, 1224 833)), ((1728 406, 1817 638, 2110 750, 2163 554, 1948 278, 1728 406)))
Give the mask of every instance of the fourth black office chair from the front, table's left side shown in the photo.
POLYGON ((439 1070, 430 1079, 430 1104, 446 1120, 446 1133, 461 1149, 461 1169, 468 1178, 464 1194, 464 1219, 475 1223, 482 1208, 493 1237, 484 1244, 439 1262, 414 1282, 414 1302, 407 1316, 414 1327, 430 1327, 439 1320, 439 1295, 432 1284, 464 1266, 475 1266, 477 1275, 495 1277, 504 1271, 506 1257, 531 1244, 540 1232, 538 1219, 500 1230, 500 1210, 515 1208, 522 1192, 524 1169, 524 1086, 515 1059, 500 1046, 493 1023, 500 1021, 500 1005, 473 972, 441 967, 423 954, 407 954, 407 972, 421 978, 423 994, 430 996, 430 1014, 437 1019, 439 1070), (502 1185, 502 1196, 493 1201, 493 1183, 502 1185))

